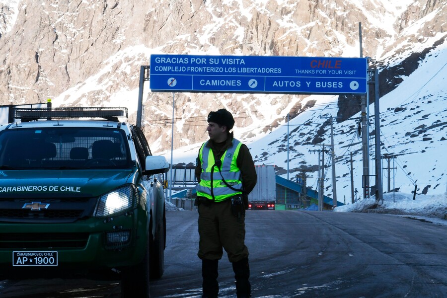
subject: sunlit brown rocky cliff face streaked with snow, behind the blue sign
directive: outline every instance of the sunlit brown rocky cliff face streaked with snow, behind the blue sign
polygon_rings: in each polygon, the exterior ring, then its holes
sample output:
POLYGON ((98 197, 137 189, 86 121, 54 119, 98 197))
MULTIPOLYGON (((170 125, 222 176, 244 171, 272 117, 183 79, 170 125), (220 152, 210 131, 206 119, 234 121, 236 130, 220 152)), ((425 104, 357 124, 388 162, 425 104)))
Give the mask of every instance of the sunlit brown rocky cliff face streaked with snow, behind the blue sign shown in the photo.
MULTIPOLYGON (((148 65, 152 53, 358 57, 359 22, 363 55, 379 60, 383 69, 398 68, 409 53, 444 40, 447 26, 446 2, 438 0, 62 2, 0 0, 1 104, 52 98, 56 106, 135 106, 140 66, 148 65)), ((384 82, 393 78, 387 75, 384 82)), ((168 149, 172 95, 145 88, 149 143, 155 150, 168 149)), ((264 119, 264 109, 275 109, 278 117, 245 132, 249 138, 284 121, 282 115, 294 117, 314 104, 304 95, 175 97, 174 118, 180 120, 174 148, 206 139, 188 123, 205 126, 210 110, 226 107, 243 127, 264 119)))

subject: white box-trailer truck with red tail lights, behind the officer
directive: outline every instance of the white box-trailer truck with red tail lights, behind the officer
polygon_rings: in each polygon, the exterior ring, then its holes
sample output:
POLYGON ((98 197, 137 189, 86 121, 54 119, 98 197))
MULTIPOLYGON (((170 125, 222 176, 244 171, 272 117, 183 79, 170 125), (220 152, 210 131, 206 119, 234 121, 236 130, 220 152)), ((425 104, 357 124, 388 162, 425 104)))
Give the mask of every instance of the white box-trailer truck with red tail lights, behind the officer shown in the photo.
POLYGON ((275 210, 276 173, 274 165, 256 165, 255 188, 248 195, 248 210, 275 210))

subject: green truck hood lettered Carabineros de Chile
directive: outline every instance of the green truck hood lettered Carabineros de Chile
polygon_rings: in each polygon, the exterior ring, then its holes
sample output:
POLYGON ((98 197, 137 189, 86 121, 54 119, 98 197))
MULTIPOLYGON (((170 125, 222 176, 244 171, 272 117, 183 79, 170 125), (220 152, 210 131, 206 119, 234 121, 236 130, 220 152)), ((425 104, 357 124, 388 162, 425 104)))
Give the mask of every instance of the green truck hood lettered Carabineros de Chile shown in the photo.
POLYGON ((132 183, 136 169, 3 170, 0 198, 95 197, 132 183))

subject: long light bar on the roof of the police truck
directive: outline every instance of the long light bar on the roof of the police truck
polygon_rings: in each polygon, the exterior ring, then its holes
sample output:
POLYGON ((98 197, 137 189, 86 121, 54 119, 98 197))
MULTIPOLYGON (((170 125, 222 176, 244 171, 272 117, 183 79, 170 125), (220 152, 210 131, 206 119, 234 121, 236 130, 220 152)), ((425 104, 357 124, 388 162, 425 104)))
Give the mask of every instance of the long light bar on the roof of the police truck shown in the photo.
POLYGON ((15 108, 15 118, 22 122, 37 119, 78 119, 78 118, 102 118, 107 120, 118 120, 128 118, 127 108, 104 108, 104 107, 72 107, 72 108, 15 108))

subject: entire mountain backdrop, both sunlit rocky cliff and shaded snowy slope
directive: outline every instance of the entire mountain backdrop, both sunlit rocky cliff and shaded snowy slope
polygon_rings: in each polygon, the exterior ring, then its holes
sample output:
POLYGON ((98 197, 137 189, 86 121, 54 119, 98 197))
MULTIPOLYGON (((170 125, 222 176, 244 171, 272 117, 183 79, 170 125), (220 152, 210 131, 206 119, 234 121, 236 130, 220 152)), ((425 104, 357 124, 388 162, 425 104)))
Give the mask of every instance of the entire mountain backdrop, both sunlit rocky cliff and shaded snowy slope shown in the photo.
MULTIPOLYGON (((362 55, 372 57, 372 67, 380 71, 381 151, 397 156, 390 165, 397 168, 391 170, 391 189, 411 193, 417 184, 418 194, 444 193, 446 4, 446 0, 0 0, 0 101, 21 104, 51 98, 53 106, 125 106, 131 111, 129 121, 135 122, 140 66, 149 64, 151 54, 359 57, 361 23, 362 55)), ((173 94, 153 93, 149 83, 145 85, 145 134, 152 151, 168 160, 172 99, 173 94)), ((291 179, 299 169, 313 170, 307 180, 313 188, 315 150, 330 144, 327 117, 333 116, 337 199, 350 202, 351 152, 355 188, 362 194, 359 96, 176 93, 173 163, 194 162, 207 139, 206 115, 223 107, 234 114, 235 136, 250 147, 256 163, 275 164, 284 177, 289 164, 291 179)), ((372 138, 372 175, 373 149, 372 138)), ((324 182, 328 196, 332 196, 330 162, 324 182)), ((384 174, 386 191, 387 171, 384 174)))

